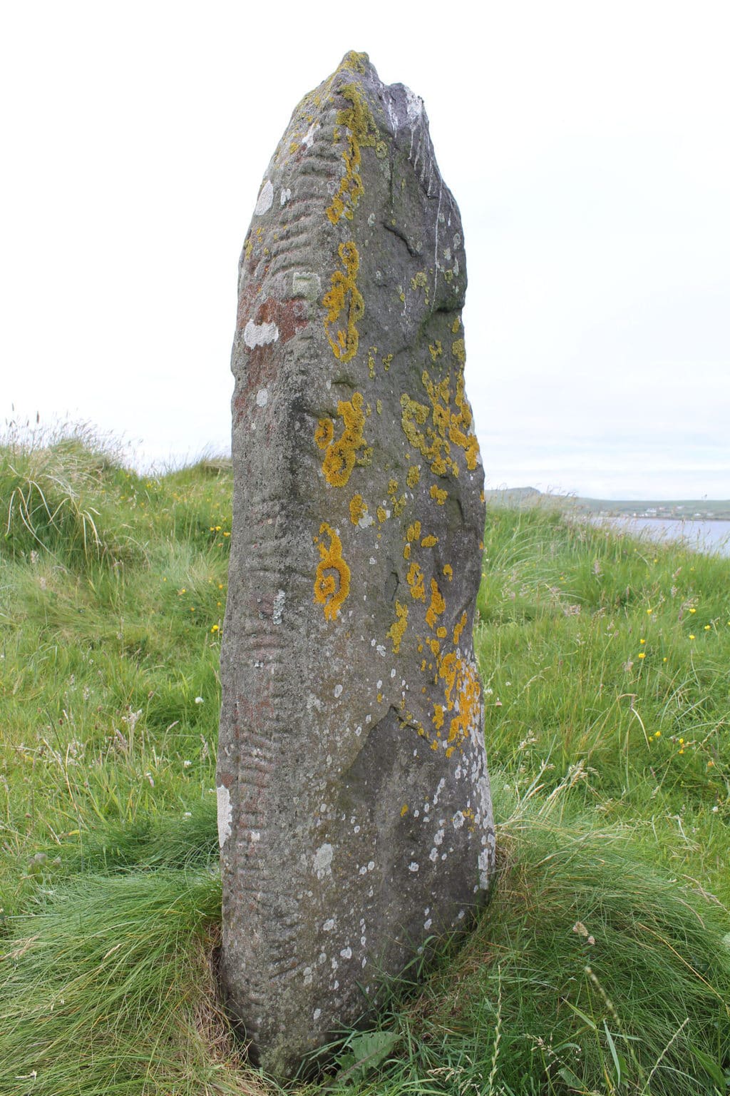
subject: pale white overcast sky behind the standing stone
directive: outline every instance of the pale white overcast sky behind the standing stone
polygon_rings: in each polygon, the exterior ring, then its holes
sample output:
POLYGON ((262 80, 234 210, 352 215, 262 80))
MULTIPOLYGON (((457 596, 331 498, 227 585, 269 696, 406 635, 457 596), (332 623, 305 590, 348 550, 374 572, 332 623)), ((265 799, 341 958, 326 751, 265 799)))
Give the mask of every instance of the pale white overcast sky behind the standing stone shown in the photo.
POLYGON ((0 14, 0 429, 230 452, 236 269, 302 95, 364 50, 462 213, 487 487, 730 499, 726 0, 0 14))

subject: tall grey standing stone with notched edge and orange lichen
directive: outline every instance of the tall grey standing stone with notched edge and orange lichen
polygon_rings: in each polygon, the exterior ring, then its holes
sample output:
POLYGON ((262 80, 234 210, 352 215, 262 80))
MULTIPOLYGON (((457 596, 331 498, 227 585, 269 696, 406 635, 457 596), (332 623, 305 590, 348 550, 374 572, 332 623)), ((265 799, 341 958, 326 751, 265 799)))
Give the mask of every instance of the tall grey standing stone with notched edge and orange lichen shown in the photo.
POLYGON ((279 1075, 489 882, 465 286, 421 100, 348 54, 266 172, 232 359, 222 972, 279 1075))

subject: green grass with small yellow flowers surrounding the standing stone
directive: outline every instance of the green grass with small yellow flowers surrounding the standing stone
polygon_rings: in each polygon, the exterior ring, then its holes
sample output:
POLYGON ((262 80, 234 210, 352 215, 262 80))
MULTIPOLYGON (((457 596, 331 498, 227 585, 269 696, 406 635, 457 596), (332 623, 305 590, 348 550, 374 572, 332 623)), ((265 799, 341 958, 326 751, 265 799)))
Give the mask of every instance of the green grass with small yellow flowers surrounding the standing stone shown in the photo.
MULTIPOLYGON (((230 469, 0 445, 0 1096, 271 1096, 216 996, 230 469)), ((298 1096, 730 1087, 730 560, 490 510, 499 875, 298 1096)))

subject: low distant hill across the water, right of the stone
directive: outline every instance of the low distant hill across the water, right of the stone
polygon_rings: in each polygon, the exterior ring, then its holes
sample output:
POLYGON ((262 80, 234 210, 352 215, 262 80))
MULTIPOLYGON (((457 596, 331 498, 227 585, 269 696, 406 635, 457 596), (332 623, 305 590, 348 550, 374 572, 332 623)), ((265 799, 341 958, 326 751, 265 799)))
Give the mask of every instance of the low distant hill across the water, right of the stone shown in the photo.
POLYGON ((485 491, 490 506, 558 506, 571 513, 596 517, 663 517, 665 521, 730 521, 730 500, 718 499, 583 499, 551 494, 534 487, 510 487, 485 491))

